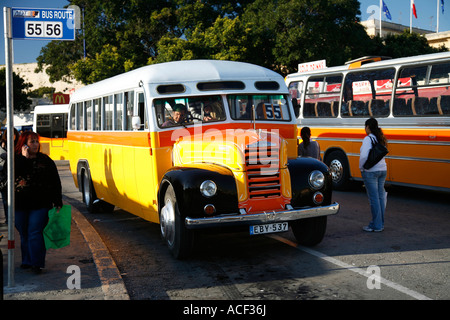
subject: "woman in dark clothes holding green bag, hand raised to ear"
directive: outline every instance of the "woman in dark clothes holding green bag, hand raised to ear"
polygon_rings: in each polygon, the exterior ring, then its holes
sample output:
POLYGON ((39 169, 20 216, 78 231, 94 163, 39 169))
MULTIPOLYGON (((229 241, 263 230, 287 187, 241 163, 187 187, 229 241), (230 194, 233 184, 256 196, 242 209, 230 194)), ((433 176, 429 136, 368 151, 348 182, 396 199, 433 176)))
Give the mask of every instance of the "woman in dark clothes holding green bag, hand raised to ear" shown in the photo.
POLYGON ((45 267, 43 231, 48 211, 62 207, 56 165, 39 150, 39 136, 35 132, 24 132, 15 147, 15 225, 21 240, 21 268, 32 268, 35 273, 45 267))

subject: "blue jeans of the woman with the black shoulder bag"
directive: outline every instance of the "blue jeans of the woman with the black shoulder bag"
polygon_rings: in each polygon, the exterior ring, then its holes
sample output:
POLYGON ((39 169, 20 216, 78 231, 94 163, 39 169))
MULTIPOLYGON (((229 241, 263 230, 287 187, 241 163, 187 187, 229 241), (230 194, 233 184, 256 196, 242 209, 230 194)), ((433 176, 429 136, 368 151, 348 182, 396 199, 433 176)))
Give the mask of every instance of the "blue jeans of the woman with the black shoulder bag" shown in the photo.
POLYGON ((386 171, 362 171, 361 175, 366 186, 367 196, 369 197, 370 211, 372 212, 372 221, 369 228, 382 230, 384 228, 384 210, 385 210, 385 190, 386 171))

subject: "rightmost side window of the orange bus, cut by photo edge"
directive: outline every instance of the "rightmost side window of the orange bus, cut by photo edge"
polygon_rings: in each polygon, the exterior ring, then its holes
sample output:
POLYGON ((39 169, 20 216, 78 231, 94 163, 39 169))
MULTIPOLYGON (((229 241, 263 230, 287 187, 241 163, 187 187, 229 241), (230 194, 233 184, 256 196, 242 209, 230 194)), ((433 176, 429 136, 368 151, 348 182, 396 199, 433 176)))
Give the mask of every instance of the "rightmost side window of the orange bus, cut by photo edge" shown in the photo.
POLYGON ((394 116, 450 114, 450 64, 414 66, 400 70, 394 116))

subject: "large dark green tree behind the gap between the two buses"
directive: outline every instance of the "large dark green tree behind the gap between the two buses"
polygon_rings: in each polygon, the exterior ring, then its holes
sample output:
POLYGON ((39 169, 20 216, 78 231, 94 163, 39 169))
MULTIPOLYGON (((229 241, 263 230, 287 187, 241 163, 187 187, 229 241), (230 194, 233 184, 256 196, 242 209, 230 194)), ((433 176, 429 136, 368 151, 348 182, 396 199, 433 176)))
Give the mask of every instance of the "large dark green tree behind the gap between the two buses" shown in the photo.
POLYGON ((242 20, 253 23, 253 56, 282 74, 299 62, 326 59, 341 65, 359 57, 370 38, 359 23, 356 0, 256 0, 242 20))

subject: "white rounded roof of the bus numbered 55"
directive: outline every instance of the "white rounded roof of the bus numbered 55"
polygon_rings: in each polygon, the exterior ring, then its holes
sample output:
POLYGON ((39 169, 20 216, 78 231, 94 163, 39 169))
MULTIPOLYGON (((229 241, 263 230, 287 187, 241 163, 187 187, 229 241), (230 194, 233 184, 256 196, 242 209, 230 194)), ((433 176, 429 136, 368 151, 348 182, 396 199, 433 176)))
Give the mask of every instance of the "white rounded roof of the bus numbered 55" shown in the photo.
MULTIPOLYGON (((75 91, 72 101, 136 88, 143 84, 186 84, 208 81, 276 81, 283 77, 267 68, 245 62, 224 60, 183 60, 153 64, 99 81, 75 91)), ((286 89, 287 91, 287 89, 286 89)))

